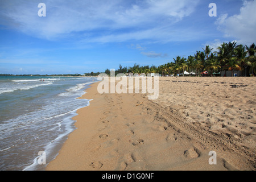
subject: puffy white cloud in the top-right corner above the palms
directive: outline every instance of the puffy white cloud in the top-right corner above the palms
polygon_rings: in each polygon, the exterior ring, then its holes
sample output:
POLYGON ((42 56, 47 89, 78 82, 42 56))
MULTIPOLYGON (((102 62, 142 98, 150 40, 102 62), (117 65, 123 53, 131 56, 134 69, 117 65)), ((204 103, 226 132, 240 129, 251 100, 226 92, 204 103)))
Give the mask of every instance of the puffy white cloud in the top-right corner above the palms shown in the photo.
POLYGON ((256 42, 256 1, 243 1, 240 14, 228 16, 221 15, 216 24, 218 30, 226 37, 233 37, 238 43, 250 44, 256 42))

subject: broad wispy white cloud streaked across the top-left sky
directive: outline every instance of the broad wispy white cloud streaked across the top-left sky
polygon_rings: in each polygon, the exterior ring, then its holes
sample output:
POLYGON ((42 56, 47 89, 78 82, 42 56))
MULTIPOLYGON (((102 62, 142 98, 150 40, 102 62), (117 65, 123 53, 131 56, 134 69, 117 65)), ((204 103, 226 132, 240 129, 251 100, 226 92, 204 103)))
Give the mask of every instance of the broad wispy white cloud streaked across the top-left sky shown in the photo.
MULTIPOLYGON (((80 38, 88 38, 90 42, 151 39, 155 30, 170 26, 195 11, 199 0, 45 0, 46 17, 38 16, 40 2, 42 0, 1 0, 0 24, 47 39, 77 32, 83 32, 80 38)), ((162 36, 168 31, 162 32, 162 36)))

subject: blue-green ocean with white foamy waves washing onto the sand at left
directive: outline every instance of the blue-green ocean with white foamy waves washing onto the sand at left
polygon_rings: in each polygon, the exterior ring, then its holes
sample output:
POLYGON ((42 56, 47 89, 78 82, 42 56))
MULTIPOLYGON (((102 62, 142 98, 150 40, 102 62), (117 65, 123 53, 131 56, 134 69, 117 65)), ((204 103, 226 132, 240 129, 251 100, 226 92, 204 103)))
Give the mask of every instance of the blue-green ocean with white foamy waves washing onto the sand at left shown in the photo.
POLYGON ((90 101, 77 98, 95 81, 0 76, 0 170, 44 170, 76 129, 72 117, 90 101))

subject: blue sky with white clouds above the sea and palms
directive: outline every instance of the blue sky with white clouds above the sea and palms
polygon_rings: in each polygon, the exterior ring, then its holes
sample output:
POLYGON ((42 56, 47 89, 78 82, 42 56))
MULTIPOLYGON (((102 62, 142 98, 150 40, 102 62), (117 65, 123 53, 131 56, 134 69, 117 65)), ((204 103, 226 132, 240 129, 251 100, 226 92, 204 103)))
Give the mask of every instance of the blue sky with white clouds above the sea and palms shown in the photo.
POLYGON ((206 45, 256 43, 256 1, 1 0, 0 73, 67 74, 161 65, 206 45), (39 3, 46 16, 39 17, 39 3), (217 16, 208 7, 216 3, 217 16))

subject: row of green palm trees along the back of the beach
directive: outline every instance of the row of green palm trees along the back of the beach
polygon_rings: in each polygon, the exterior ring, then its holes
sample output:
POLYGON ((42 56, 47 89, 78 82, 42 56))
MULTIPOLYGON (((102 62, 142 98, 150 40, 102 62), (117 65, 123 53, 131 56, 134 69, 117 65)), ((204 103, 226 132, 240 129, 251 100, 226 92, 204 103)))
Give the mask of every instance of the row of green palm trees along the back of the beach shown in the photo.
MULTIPOLYGON (((115 71, 118 73, 159 73, 160 75, 177 75, 187 71, 189 76, 202 76, 205 71, 208 72, 208 76, 213 76, 214 72, 225 72, 231 71, 242 71, 242 76, 248 76, 249 74, 254 75, 256 69, 256 46, 243 46, 242 44, 237 45, 236 42, 222 43, 217 51, 209 46, 205 46, 202 51, 196 51, 194 55, 188 57, 176 56, 174 61, 166 63, 156 67, 152 65, 140 66, 134 64, 133 67, 122 67, 119 65, 119 69, 115 71)), ((110 75, 110 70, 106 69, 105 73, 110 75)))

